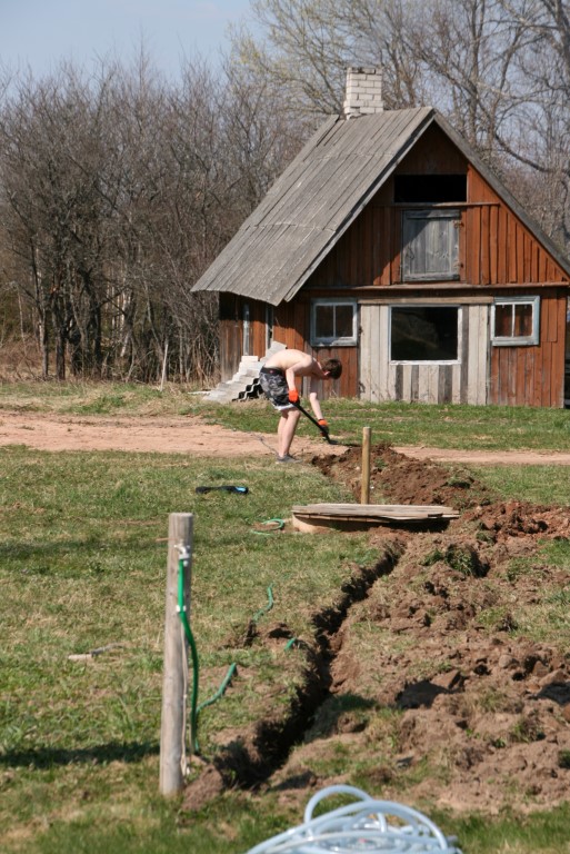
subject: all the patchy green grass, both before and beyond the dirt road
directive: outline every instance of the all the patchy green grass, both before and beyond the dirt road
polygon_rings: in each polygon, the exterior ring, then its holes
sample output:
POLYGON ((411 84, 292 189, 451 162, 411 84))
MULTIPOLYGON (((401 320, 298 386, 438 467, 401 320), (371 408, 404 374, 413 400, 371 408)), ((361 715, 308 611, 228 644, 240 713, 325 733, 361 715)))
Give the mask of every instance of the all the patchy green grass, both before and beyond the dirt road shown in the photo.
MULTIPOLYGON (((94 417, 192 411, 237 429, 274 428, 261 403, 211 407, 179 389, 4 385, 1 408, 94 417)), ((570 449, 567 411, 338 400, 327 414, 333 431, 354 441, 366 424, 377 440, 393 444, 570 449)), ((264 460, 12 446, 0 448, 0 851, 244 854, 298 824, 302 816, 274 793, 236 788, 198 813, 158 793, 164 537, 170 513, 194 515, 201 701, 237 665, 231 688, 200 715, 200 747, 214 757, 221 734, 256 721, 268 694, 286 704, 301 675, 284 643, 271 652, 242 643, 269 588, 271 619, 302 638, 313 604, 333 603, 350 566, 376 558, 363 534, 260 536, 256 524, 286 518, 292 504, 348 496, 307 466, 281 470, 264 460), (206 481, 246 484, 249 493, 197 495, 206 481), (92 659, 70 658, 101 647, 109 648, 92 659)), ((556 496, 570 505, 566 468, 506 466, 477 475, 509 497, 556 496)), ((432 817, 458 834, 466 854, 569 850, 567 808, 524 821, 432 817)))

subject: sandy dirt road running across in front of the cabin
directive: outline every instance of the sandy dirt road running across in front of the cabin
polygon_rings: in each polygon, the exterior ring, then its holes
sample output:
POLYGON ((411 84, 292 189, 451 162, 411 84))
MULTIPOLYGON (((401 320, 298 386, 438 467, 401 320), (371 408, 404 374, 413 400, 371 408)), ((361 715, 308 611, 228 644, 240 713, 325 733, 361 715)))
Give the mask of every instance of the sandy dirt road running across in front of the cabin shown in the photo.
MULTIPOLYGON (((26 445, 39 450, 124 450, 191 454, 202 457, 271 456, 274 434, 241 433, 204 424, 199 417, 58 416, 0 410, 0 446, 26 445)), ((342 454, 343 445, 324 445, 320 439, 297 437, 294 453, 342 454)), ((546 451, 492 453, 431 447, 399 446, 400 454, 414 459, 456 460, 479 465, 570 465, 570 454, 546 451)))

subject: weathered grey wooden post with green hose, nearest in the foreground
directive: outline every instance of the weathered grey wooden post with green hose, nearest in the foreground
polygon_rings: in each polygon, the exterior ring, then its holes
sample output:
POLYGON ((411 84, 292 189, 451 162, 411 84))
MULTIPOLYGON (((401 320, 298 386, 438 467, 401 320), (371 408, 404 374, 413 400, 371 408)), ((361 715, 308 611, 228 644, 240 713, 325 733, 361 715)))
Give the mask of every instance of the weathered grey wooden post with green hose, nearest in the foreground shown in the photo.
POLYGON ((191 513, 171 513, 168 517, 167 607, 159 783, 162 795, 174 795, 180 792, 186 773, 188 642, 178 609, 178 574, 179 562, 184 559, 184 605, 190 619, 192 522, 191 513))

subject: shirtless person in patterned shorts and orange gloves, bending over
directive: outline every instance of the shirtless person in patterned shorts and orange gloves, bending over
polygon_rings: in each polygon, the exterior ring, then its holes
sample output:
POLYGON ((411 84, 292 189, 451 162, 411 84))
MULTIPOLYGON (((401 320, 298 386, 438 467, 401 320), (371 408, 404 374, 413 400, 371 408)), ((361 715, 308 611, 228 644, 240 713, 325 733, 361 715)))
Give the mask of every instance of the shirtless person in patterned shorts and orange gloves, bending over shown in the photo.
MULTIPOLYGON (((321 366, 317 359, 301 350, 279 350, 266 361, 259 375, 261 388, 281 415, 277 428, 278 463, 297 463, 296 458, 289 454, 301 417, 301 410, 296 407, 299 403, 297 377, 338 379, 341 374, 342 365, 338 359, 329 359, 321 366)), ((311 383, 309 403, 319 425, 327 429, 328 425, 322 417, 317 391, 312 386, 311 383)))

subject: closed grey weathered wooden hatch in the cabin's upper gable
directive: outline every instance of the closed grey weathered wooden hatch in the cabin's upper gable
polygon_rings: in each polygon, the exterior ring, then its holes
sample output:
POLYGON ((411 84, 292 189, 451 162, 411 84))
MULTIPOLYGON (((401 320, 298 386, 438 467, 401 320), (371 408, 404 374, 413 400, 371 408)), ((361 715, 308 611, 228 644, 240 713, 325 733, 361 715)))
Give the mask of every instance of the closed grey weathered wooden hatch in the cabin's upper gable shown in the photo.
POLYGON ((402 279, 431 281, 459 278, 458 210, 402 212, 402 279))

